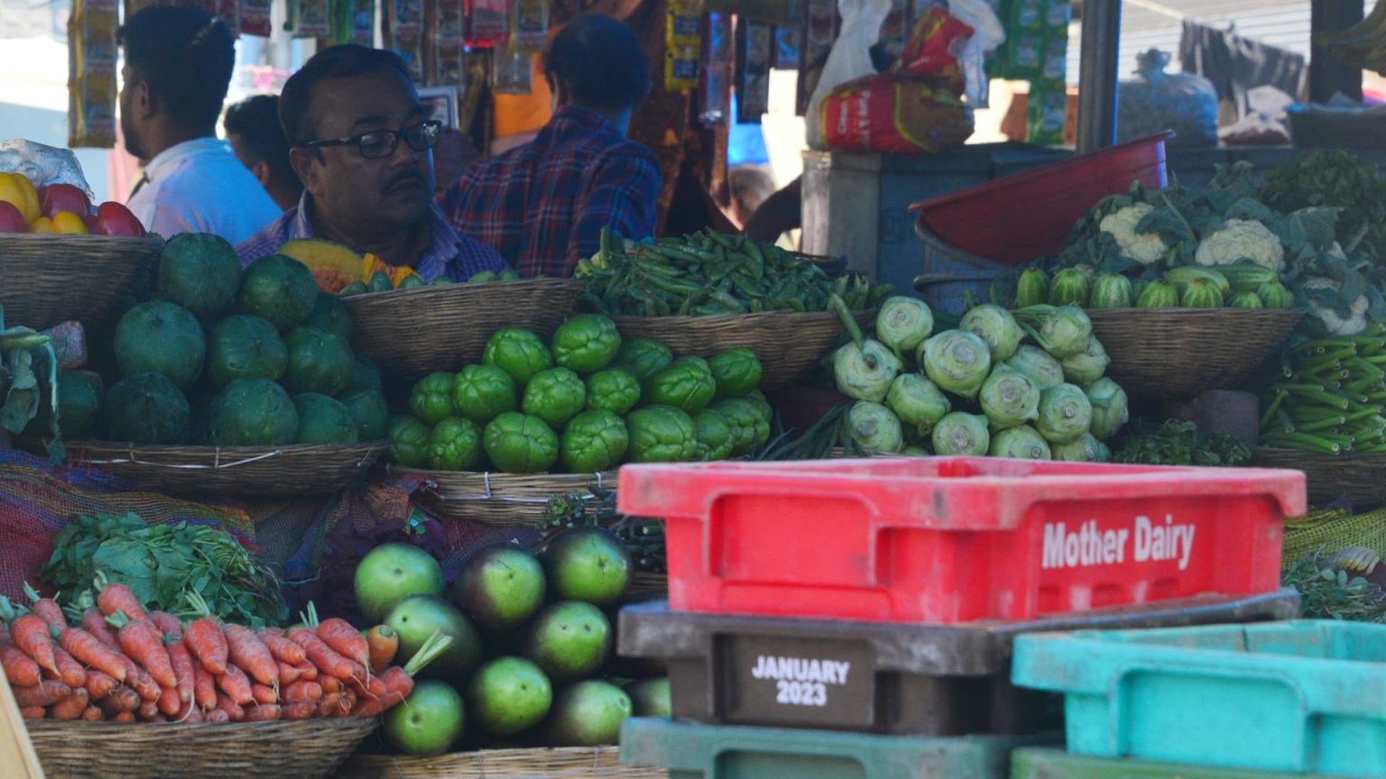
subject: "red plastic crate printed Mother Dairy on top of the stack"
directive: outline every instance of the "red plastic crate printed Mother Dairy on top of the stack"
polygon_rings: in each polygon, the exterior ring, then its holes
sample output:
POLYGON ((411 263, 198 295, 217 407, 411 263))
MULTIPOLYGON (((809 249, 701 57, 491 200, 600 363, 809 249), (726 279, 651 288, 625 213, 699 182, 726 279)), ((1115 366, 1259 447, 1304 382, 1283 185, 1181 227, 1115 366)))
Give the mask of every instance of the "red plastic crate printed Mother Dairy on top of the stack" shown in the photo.
POLYGON ((1275 590, 1304 474, 992 457, 649 464, 621 469, 618 510, 667 520, 674 610, 1031 620, 1275 590))

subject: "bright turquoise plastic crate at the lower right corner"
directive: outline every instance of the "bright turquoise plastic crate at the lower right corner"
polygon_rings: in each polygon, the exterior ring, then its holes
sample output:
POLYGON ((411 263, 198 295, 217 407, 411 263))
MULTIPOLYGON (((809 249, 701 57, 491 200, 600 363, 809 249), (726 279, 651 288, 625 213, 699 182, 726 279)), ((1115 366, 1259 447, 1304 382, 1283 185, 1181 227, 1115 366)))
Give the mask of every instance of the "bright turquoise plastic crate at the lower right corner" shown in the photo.
POLYGON ((1386 776, 1386 625, 1026 635, 1012 679, 1064 693, 1074 754, 1386 776))

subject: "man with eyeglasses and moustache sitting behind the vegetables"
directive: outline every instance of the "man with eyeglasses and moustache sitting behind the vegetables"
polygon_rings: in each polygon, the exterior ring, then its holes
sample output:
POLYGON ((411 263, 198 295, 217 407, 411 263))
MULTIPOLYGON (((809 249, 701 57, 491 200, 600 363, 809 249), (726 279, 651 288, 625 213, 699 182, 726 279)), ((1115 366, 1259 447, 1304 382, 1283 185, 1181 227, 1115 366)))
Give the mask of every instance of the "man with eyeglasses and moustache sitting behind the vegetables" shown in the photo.
POLYGON ((466 281, 505 270, 493 250, 459 236, 432 202, 432 147, 442 132, 427 121, 405 62, 392 51, 333 46, 290 76, 279 119, 304 197, 241 244, 243 263, 298 238, 326 238, 426 281, 466 281))

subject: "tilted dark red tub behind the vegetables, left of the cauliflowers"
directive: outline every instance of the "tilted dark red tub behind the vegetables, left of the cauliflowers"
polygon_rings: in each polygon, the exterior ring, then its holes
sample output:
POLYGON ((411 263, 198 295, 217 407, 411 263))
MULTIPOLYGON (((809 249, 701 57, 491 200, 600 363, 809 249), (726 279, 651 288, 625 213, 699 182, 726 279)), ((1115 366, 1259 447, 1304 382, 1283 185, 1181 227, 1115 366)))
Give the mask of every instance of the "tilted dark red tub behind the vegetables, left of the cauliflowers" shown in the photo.
MULTIPOLYGON (((1139 180, 1166 184, 1161 133, 909 207, 920 227, 969 254, 1023 265, 1063 248, 1082 213, 1139 180)), ((920 230, 923 231, 923 230, 920 230)))

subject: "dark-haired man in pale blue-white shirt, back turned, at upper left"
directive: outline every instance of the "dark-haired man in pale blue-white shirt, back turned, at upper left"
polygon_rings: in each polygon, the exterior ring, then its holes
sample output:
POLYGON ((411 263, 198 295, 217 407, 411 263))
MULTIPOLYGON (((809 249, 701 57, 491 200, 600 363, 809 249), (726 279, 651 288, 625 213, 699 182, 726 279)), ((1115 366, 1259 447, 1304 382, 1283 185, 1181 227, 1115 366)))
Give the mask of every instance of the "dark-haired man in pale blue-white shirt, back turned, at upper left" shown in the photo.
POLYGON ((280 209, 245 169, 216 119, 231 82, 234 36, 220 17, 191 6, 155 6, 119 32, 121 130, 146 161, 129 208, 151 233, 215 233, 231 244, 280 209))

